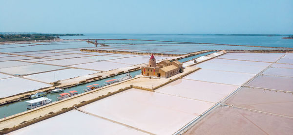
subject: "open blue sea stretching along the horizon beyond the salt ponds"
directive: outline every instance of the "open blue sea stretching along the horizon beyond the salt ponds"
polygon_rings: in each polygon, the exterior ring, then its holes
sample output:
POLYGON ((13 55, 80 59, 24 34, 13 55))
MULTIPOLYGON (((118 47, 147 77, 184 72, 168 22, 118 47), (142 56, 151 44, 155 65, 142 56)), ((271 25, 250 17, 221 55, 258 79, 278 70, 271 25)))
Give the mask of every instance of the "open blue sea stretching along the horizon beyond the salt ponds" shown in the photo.
POLYGON ((145 39, 177 42, 219 43, 266 47, 293 48, 293 39, 282 39, 285 35, 181 35, 181 34, 84 34, 62 36, 63 39, 145 39))

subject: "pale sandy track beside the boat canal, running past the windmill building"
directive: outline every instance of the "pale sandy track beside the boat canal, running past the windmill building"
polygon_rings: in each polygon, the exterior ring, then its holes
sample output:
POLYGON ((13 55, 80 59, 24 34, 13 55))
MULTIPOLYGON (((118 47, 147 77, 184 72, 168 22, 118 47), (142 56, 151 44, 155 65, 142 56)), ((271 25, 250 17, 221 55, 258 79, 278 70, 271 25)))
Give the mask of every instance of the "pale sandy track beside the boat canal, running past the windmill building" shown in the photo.
MULTIPOLYGON (((65 108, 65 107, 69 108, 73 106, 74 104, 79 104, 82 101, 89 101, 99 96, 107 95, 108 92, 113 93, 115 91, 118 91, 120 88, 128 87, 131 84, 134 84, 135 86, 138 86, 138 87, 152 88, 152 87, 167 83, 168 81, 170 81, 170 79, 173 80, 175 78, 180 77, 181 75, 187 74, 188 72, 193 72, 197 69, 198 67, 186 67, 183 73, 177 74, 170 78, 149 79, 146 77, 138 76, 135 79, 131 79, 126 82, 111 84, 109 86, 104 87, 103 89, 96 89, 95 91, 90 91, 90 93, 83 93, 78 95, 78 97, 76 98, 70 98, 62 102, 55 102, 53 105, 50 105, 49 107, 43 106, 42 108, 37 108, 38 110, 34 112, 27 113, 19 117, 11 118, 5 121, 1 121, 0 130, 3 128, 11 128, 13 126, 19 125, 22 121, 28 121, 33 118, 39 118, 40 116, 47 115, 49 112, 57 112, 62 110, 62 108, 65 108)), ((13 116, 10 116, 10 117, 13 117, 13 116)))

